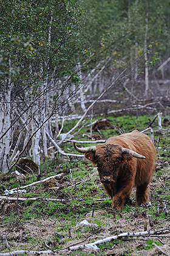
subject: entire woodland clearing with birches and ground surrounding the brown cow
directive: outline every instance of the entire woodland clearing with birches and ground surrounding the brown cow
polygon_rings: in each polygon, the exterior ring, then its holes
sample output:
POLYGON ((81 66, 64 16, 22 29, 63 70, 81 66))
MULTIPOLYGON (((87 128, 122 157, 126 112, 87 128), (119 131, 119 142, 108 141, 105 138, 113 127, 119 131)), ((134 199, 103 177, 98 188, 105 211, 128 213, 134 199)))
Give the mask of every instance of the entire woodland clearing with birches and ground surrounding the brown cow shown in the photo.
POLYGON ((169 2, 1 5, 0 256, 170 255, 169 2), (151 201, 118 212, 73 141, 134 129, 157 148, 151 201))

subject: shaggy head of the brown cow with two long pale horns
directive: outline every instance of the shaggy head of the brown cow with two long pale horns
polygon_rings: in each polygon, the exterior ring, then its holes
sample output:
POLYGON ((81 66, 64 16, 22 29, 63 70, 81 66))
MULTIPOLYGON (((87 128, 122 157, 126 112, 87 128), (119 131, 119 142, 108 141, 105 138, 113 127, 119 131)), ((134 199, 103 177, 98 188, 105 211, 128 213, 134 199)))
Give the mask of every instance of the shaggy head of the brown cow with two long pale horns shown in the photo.
POLYGON ((114 183, 120 166, 132 157, 145 158, 135 151, 114 144, 103 143, 87 148, 78 148, 73 144, 78 152, 84 153, 84 157, 97 165, 101 183, 114 183))

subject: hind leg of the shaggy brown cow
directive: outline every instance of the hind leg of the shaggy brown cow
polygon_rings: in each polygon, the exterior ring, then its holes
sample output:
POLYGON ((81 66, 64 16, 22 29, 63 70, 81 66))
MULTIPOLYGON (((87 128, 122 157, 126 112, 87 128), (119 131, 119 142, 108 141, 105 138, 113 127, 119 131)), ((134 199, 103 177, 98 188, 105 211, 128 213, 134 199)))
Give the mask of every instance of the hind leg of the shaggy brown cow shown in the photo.
POLYGON ((144 204, 145 202, 148 202, 149 198, 150 198, 149 184, 144 183, 140 186, 137 186, 137 190, 136 190, 137 205, 141 205, 141 204, 144 204))

